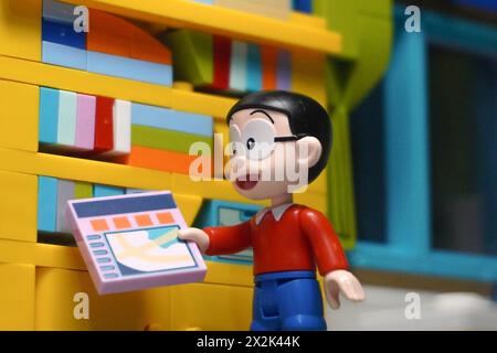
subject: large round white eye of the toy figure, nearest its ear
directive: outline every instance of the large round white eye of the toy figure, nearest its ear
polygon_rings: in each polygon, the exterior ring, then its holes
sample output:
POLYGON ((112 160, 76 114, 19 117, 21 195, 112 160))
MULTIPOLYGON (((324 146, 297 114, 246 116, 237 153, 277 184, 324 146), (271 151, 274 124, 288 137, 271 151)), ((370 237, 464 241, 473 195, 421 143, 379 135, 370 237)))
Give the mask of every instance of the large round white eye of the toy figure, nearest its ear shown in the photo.
POLYGON ((274 149, 275 130, 265 119, 250 120, 243 128, 242 142, 252 160, 267 158, 274 149))

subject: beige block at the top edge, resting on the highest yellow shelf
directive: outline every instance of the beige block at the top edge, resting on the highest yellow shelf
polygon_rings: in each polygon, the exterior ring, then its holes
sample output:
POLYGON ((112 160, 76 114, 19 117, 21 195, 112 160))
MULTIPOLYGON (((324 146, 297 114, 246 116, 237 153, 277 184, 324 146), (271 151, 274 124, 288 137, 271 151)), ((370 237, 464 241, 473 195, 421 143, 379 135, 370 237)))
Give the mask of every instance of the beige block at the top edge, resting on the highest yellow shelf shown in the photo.
POLYGON ((214 0, 214 4, 278 20, 288 20, 292 10, 290 0, 214 0))

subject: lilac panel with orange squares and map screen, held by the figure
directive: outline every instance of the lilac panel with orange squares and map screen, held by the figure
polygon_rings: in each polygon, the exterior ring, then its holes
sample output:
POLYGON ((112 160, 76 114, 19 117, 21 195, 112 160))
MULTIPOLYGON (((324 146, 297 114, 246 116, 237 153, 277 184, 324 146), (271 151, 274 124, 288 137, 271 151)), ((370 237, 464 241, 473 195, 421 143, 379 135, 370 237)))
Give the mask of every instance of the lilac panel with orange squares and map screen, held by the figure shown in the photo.
POLYGON ((203 280, 207 268, 198 247, 178 240, 178 229, 187 225, 170 192, 78 200, 67 208, 98 293, 203 280), (151 227, 138 226, 137 216, 148 216, 151 227), (116 217, 130 226, 116 227, 116 217))

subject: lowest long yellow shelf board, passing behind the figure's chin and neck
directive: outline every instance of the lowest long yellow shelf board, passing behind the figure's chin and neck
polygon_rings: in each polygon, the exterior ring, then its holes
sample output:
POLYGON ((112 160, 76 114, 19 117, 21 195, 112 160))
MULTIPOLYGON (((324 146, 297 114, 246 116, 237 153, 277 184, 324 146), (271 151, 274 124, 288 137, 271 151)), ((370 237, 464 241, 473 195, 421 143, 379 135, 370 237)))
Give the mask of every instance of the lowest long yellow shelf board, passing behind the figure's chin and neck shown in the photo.
MULTIPOLYGON (((181 195, 198 195, 203 199, 218 199, 246 202, 229 181, 213 180, 194 182, 186 174, 171 174, 161 171, 130 165, 94 161, 65 156, 29 152, 0 148, 1 170, 24 174, 36 174, 85 181, 98 184, 146 190, 171 190, 181 195)), ((306 200, 319 211, 325 212, 325 193, 297 194, 297 200, 306 200)), ((267 205, 267 201, 255 202, 267 205)))

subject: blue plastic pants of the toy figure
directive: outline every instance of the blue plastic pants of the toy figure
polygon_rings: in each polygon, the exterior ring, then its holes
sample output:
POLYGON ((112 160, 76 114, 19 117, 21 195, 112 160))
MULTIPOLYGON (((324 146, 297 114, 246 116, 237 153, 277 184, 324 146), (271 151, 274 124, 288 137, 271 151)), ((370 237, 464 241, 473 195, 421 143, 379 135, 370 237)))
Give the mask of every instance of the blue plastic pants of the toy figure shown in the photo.
POLYGON ((251 330, 326 330, 316 274, 285 271, 256 276, 251 330))

